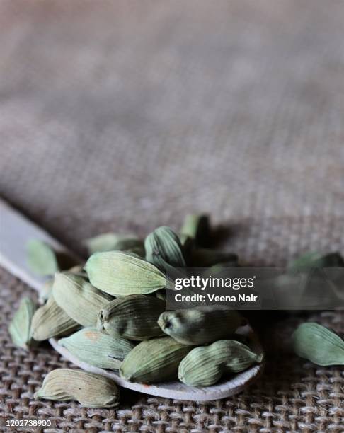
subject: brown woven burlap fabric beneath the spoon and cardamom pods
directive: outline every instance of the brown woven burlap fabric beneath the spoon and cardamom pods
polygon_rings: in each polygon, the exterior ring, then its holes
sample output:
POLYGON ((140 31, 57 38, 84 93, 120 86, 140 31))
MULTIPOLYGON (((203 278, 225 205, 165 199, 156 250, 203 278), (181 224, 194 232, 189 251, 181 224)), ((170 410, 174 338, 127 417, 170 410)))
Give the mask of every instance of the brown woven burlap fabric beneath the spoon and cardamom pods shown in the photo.
MULTIPOLYGON (((344 253, 343 23, 335 0, 1 1, 0 195, 79 252, 96 233, 210 212, 252 265, 344 253)), ((1 431, 15 418, 51 432, 344 431, 343 369, 291 354, 299 317, 265 331, 265 374, 239 396, 35 401, 69 363, 11 344, 24 293, 1 270, 1 431)), ((342 313, 313 319, 344 333, 342 313)))

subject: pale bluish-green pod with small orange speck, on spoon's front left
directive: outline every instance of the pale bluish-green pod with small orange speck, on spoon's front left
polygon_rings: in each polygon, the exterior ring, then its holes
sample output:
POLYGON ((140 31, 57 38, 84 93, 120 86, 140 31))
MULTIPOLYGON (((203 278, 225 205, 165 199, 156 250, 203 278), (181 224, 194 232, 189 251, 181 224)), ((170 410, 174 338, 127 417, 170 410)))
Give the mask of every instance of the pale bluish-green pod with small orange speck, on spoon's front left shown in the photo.
POLYGON ((74 357, 100 369, 117 370, 134 343, 101 333, 96 328, 83 328, 69 337, 59 340, 74 357))

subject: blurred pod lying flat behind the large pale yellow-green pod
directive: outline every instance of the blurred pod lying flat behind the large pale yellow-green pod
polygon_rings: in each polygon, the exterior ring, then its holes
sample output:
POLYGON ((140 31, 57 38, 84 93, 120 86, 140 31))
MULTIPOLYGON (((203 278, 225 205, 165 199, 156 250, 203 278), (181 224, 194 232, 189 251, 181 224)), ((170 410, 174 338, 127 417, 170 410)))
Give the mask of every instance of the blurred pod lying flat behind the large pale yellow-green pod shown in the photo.
POLYGON ((104 233, 94 238, 87 239, 86 246, 89 255, 103 253, 105 251, 127 251, 144 257, 144 243, 134 235, 119 235, 104 233))

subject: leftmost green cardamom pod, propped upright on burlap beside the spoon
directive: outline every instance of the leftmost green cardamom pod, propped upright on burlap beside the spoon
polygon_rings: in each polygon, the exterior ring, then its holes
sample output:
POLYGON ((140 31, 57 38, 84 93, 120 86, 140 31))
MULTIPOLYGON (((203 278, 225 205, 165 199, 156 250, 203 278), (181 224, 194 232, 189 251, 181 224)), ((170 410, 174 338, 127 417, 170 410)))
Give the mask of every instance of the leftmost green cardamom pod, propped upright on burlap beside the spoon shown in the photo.
POLYGON ((32 343, 30 328, 35 309, 36 307, 32 299, 28 297, 23 298, 8 326, 8 332, 11 335, 13 344, 23 347, 23 349, 28 349, 32 343))

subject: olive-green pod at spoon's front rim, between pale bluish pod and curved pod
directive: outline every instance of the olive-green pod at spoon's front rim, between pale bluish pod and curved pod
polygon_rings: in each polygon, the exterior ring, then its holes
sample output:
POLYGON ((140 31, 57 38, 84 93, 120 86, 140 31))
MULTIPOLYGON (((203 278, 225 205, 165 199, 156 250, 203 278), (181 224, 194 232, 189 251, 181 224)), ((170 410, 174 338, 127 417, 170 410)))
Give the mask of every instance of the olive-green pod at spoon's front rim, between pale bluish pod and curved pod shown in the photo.
POLYGON ((176 379, 178 365, 191 349, 171 337, 142 341, 125 357, 120 366, 120 376, 139 383, 176 379))

